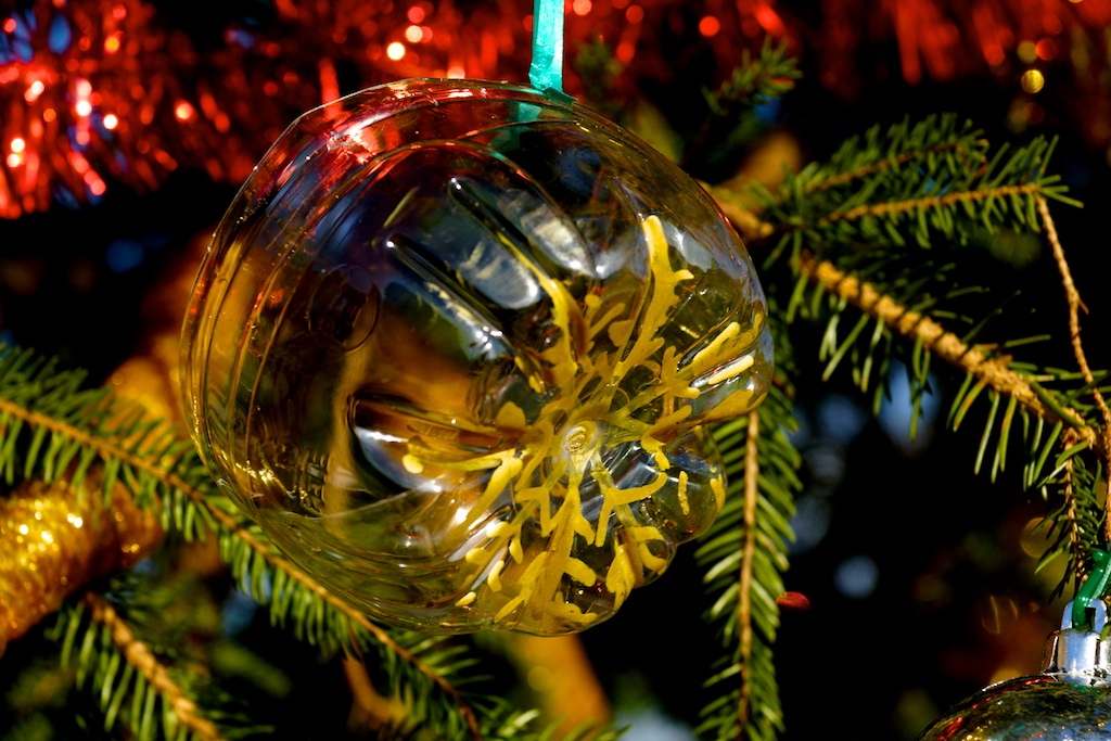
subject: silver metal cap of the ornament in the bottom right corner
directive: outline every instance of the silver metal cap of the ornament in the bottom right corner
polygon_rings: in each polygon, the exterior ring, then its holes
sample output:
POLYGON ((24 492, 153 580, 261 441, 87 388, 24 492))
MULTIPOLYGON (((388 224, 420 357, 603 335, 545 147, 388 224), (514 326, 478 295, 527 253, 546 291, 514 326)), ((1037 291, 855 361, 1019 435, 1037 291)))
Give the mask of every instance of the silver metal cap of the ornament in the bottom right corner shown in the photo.
POLYGON ((1107 605, 1100 599, 1089 600, 1081 628, 1073 627, 1072 608, 1071 602, 1065 605, 1061 630, 1047 642, 1042 671, 1070 684, 1111 687, 1107 605))

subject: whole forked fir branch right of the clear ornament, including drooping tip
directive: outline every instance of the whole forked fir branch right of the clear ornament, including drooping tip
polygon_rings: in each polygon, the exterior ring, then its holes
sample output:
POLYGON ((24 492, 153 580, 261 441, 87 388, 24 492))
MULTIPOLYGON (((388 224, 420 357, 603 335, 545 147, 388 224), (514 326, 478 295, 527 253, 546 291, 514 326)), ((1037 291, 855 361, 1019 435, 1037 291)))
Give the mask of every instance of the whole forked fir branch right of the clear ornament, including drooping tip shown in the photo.
POLYGON ((1048 199, 1079 206, 1047 173, 1052 150, 1053 142, 1035 139, 1012 153, 1004 147, 992 154, 970 124, 934 117, 885 132, 874 128, 845 142, 828 162, 789 174, 774 192, 754 184, 711 193, 750 249, 768 250, 765 268, 789 257, 799 280, 784 319, 824 316, 820 354, 827 377, 847 358, 862 390, 878 375, 878 411, 882 380, 901 352, 909 358, 913 433, 931 359, 958 368, 965 380, 949 423, 958 428, 978 400, 987 400, 975 470, 990 469, 992 479, 1004 469, 1021 421, 1023 482, 1059 502, 1042 524, 1055 535, 1042 564, 1067 555, 1067 573, 1082 578, 1100 537, 1111 539, 1111 509, 1103 509, 1111 504, 1101 503, 1099 494, 1102 471, 1111 465, 1111 411, 1100 387, 1108 373, 1092 371, 1080 347, 1083 304, 1049 213, 1048 199), (991 349, 974 344, 1001 308, 979 321, 954 313, 962 292, 981 289, 939 279, 950 268, 935 259, 943 251, 982 241, 983 233, 1042 227, 1061 271, 1079 373, 1033 368, 1003 354, 1035 338, 991 349), (860 313, 850 319, 848 308, 860 313), (970 331, 959 337, 947 330, 942 322, 951 320, 969 323, 970 331), (1078 380, 1083 385, 1078 388, 1078 380))

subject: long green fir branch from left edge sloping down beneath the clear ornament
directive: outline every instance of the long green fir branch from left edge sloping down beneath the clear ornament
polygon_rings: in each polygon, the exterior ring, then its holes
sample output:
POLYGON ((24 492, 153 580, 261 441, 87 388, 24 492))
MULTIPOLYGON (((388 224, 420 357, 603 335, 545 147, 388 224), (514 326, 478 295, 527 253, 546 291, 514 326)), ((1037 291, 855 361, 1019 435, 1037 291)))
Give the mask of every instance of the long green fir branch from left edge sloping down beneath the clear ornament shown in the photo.
POLYGON ((99 463, 106 492, 123 483, 137 502, 161 512, 167 529, 186 539, 217 533, 237 579, 244 583, 249 578, 252 597, 270 608, 276 621, 291 614, 296 631, 319 643, 360 648, 377 643, 388 659, 412 667, 416 675, 443 692, 464 732, 481 738, 473 710, 444 671, 324 590, 280 555, 257 528, 244 524, 219 493, 190 441, 168 425, 144 420, 140 410, 116 403, 106 390, 81 390, 83 380, 83 373, 58 371, 53 362, 32 352, 0 352, 0 424, 7 430, 0 470, 9 480, 18 470, 47 482, 68 479, 80 489, 90 468, 99 463), (263 588, 267 583, 269 590, 263 588))

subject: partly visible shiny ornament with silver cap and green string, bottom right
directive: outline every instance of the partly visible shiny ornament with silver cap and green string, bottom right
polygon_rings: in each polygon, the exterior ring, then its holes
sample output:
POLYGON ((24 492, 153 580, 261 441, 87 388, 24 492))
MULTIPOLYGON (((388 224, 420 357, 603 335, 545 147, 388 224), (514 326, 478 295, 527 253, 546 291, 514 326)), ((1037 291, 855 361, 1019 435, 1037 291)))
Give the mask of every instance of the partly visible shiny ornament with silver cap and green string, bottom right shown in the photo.
POLYGON ((954 705, 919 741, 1111 740, 1111 641, 1107 609, 1108 554, 1065 608, 1047 642, 1043 671, 992 684, 954 705))

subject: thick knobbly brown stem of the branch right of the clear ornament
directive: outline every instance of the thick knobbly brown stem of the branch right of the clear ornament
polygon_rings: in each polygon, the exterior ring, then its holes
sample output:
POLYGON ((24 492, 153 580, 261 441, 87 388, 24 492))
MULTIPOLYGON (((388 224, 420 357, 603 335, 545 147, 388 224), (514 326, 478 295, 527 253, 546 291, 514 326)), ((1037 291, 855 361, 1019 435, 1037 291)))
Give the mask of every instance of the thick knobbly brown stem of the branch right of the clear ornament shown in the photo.
POLYGON ((960 368, 978 382, 1014 398, 1027 411, 1049 422, 1074 428, 1079 440, 1099 454, 1107 455, 1103 440, 1083 422, 1082 414, 1057 403, 1040 385, 1013 371, 1005 359, 991 357, 977 347, 965 344, 933 319, 899 304, 869 282, 858 280, 809 252, 800 254, 797 269, 830 293, 841 297, 870 317, 881 319, 898 334, 920 342, 934 356, 960 368))

